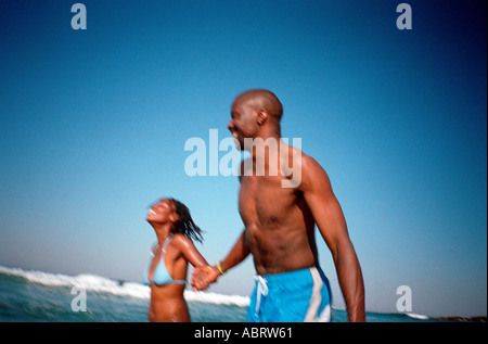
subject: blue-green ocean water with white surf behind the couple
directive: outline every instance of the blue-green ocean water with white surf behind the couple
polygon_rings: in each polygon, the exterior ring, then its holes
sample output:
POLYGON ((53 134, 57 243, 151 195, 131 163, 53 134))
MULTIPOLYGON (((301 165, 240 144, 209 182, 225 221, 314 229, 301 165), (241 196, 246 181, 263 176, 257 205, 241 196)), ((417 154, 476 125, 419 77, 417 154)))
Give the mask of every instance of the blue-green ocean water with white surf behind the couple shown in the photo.
MULTIPOLYGON (((244 322, 249 298, 185 290, 195 322, 244 322)), ((1 322, 146 322, 150 289, 94 275, 66 276, 0 266, 1 322)), ((347 321, 333 310, 333 322, 347 321)), ((370 322, 432 322, 420 315, 367 313, 370 322)))

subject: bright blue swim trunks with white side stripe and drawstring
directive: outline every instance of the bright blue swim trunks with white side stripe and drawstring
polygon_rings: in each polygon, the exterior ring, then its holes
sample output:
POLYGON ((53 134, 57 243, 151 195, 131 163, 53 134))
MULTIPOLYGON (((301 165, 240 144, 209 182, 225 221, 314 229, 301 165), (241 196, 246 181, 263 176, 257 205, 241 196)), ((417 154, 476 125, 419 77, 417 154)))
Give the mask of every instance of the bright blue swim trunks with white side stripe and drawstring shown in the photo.
POLYGON ((312 267, 256 276, 248 322, 328 322, 331 288, 322 269, 312 267))

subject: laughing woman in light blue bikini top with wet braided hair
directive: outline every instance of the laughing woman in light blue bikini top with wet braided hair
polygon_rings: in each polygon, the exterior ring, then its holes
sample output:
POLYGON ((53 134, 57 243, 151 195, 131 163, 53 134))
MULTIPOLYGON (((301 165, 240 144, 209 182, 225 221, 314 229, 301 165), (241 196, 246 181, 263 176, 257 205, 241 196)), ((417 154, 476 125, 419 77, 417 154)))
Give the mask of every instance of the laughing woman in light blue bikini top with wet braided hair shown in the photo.
POLYGON ((202 242, 202 231, 193 222, 188 207, 174 199, 163 199, 151 206, 146 217, 157 237, 153 258, 144 273, 151 285, 150 321, 190 321, 183 297, 187 270, 208 266, 193 244, 202 242))

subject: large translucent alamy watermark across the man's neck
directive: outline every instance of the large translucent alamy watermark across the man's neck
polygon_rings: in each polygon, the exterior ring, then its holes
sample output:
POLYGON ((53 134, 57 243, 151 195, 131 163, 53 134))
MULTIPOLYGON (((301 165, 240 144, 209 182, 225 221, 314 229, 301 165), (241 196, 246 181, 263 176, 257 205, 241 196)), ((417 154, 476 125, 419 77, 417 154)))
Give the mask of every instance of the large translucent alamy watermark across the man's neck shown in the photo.
MULTIPOLYGON (((240 176, 241 175, 241 144, 237 140, 228 137, 220 142, 218 129, 208 132, 208 176, 240 176), (236 150, 232 150, 235 144, 236 150), (227 152, 219 158, 219 152, 227 152)), ((282 188, 296 188, 301 182, 301 139, 293 138, 292 154, 290 154, 288 139, 277 140, 268 138, 262 140, 244 139, 244 150, 255 152, 256 166, 253 161, 244 161, 243 175, 278 176, 279 171, 286 177, 281 181, 282 188), (266 170, 268 166, 268 171, 266 170)), ((193 152, 184 161, 187 176, 207 176, 207 144, 202 138, 190 138, 184 143, 184 151, 193 152)))

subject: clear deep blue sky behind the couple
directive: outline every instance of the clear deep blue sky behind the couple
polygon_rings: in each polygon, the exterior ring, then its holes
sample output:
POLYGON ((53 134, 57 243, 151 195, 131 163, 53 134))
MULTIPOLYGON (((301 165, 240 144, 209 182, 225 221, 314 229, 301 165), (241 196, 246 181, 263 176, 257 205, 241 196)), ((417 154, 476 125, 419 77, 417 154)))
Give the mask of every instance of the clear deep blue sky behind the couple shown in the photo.
MULTIPOLYGON (((409 285, 414 313, 486 315, 485 1, 409 1, 411 30, 389 0, 82 1, 86 30, 73 3, 0 2, 0 265, 140 281, 166 195, 216 263, 243 228, 239 182, 187 176, 184 143, 229 137, 233 99, 267 88, 329 173, 367 309, 409 285)), ((210 291, 247 295, 253 275, 210 291)))

